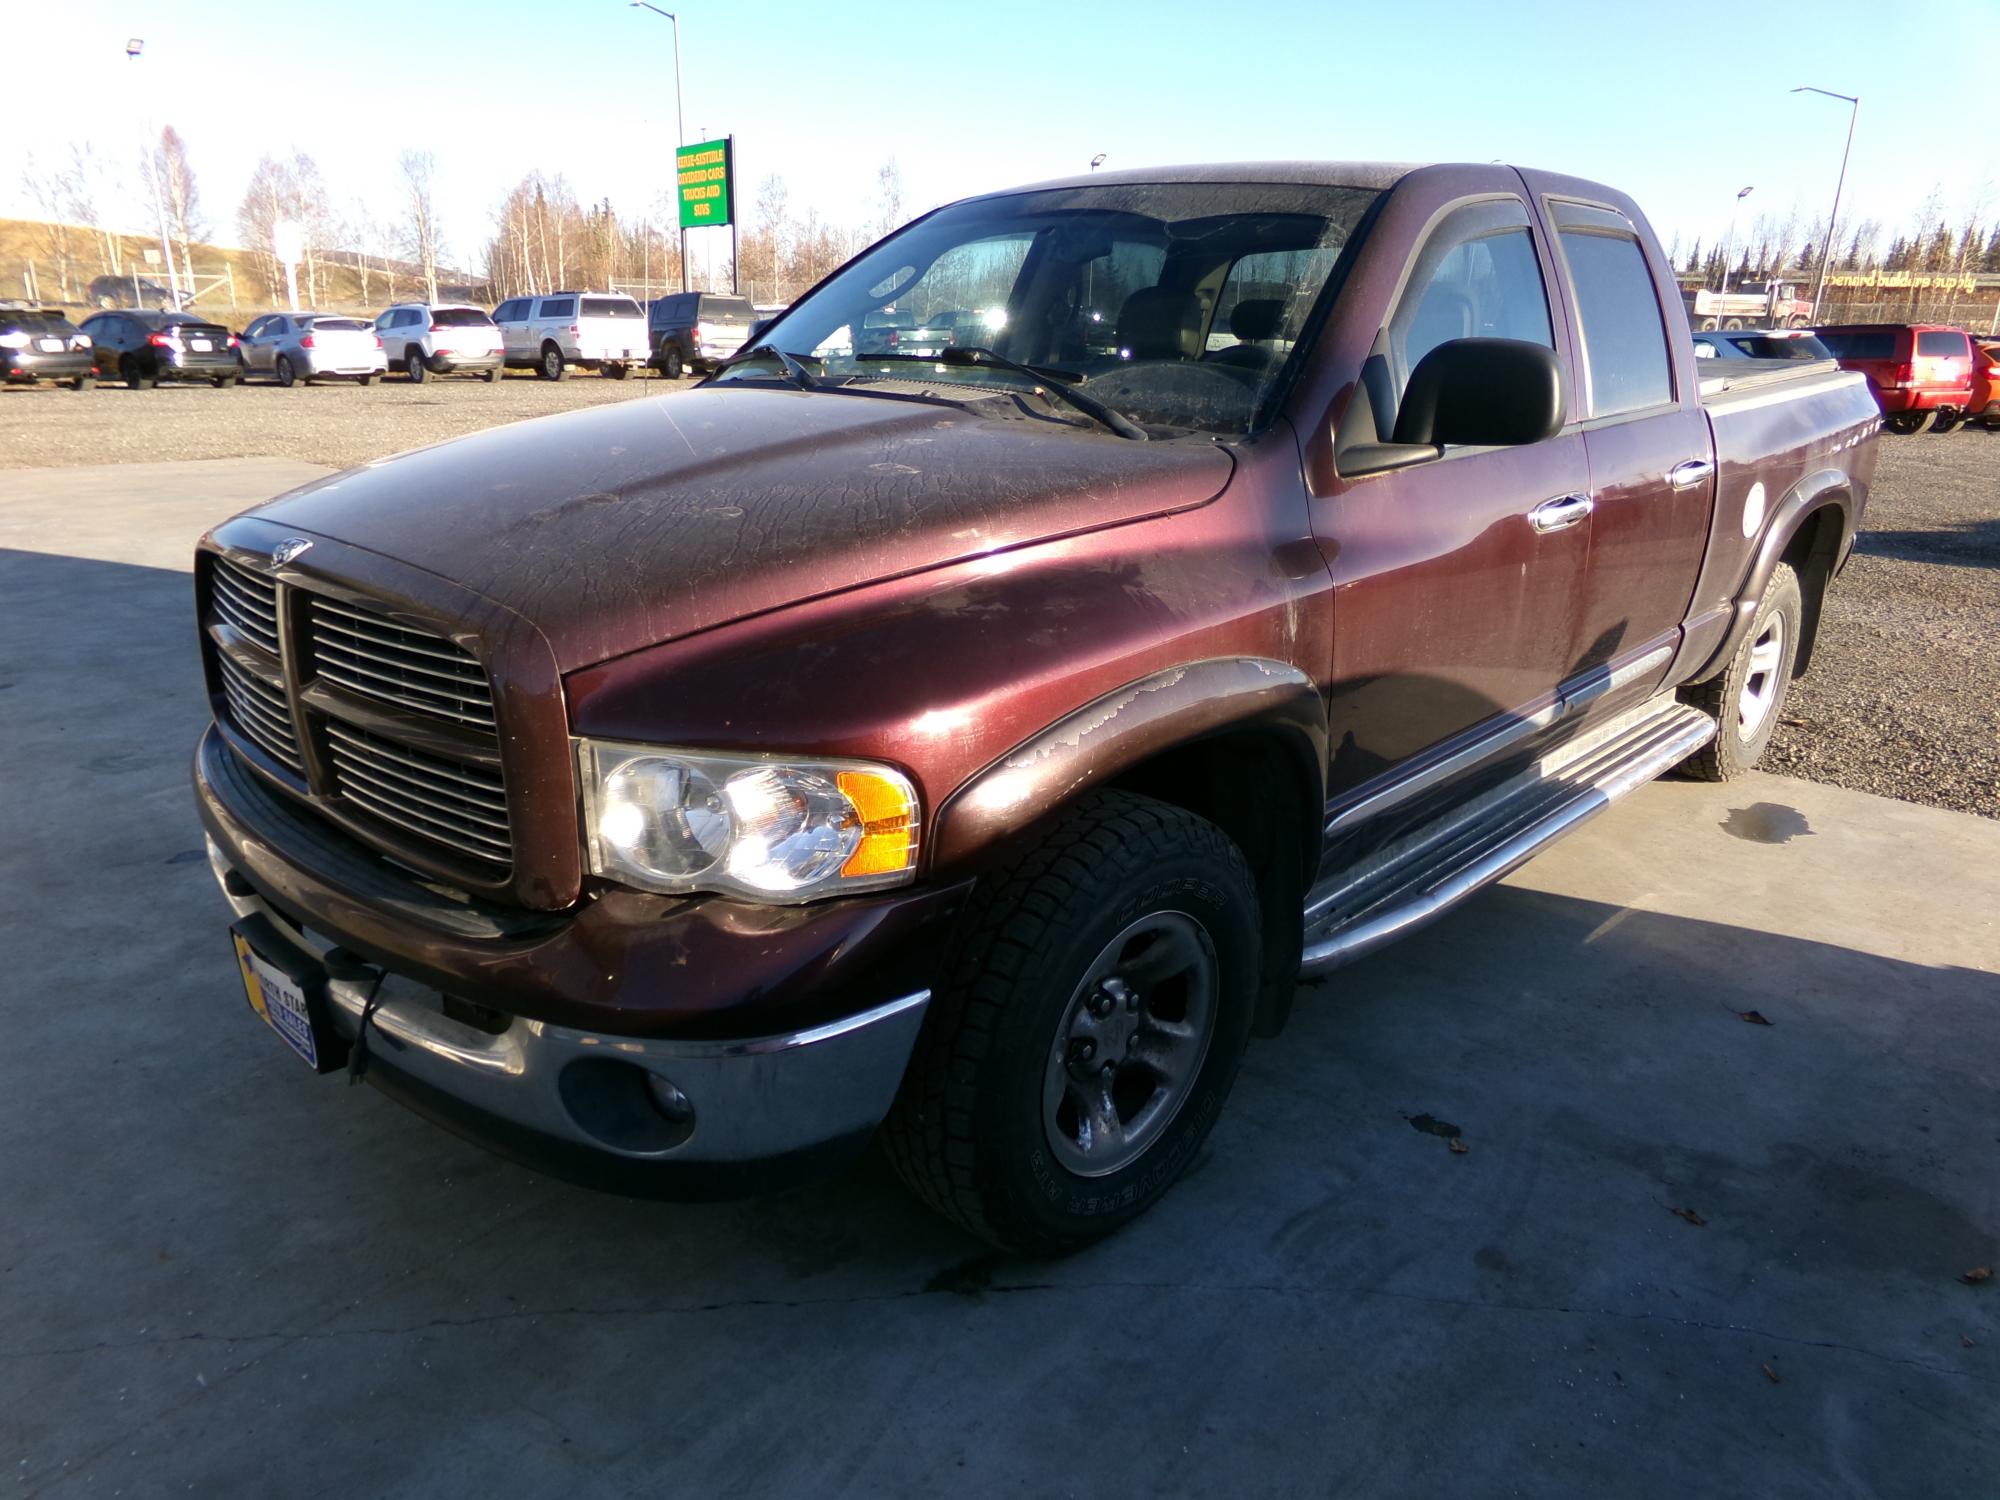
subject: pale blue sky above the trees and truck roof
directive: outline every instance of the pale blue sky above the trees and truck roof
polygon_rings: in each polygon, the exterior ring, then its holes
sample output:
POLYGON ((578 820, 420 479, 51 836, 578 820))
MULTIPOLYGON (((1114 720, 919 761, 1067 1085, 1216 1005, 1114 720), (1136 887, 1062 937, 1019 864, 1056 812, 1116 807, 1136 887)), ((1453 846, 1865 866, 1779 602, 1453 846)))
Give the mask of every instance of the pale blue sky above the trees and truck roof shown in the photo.
MULTIPOLYGON (((1894 224, 1932 186, 1954 216, 2000 218, 2000 130, 1980 120, 1992 88, 1970 76, 1994 56, 2000 0, 678 10, 688 138, 734 132, 752 190, 778 172, 794 208, 832 218, 874 218, 890 156, 908 212, 1082 170, 1096 152, 1116 166, 1500 158, 1616 184, 1662 238, 1714 240, 1746 184, 1746 224, 1824 212, 1848 110, 1792 84, 1864 100, 1844 220, 1894 224)), ((664 214, 672 28, 624 0, 14 0, 0 16, 8 54, 40 64, 26 94, 10 86, 16 118, 38 124, 0 142, 6 214, 28 212, 30 148, 96 138, 128 162, 148 116, 188 138, 224 240, 258 152, 294 146, 338 200, 380 210, 398 150, 432 150, 460 262, 528 168, 664 214), (142 62, 124 58, 128 36, 146 38, 142 62), (154 88, 120 86, 142 74, 154 88), (78 108, 86 98, 96 106, 78 108)))

